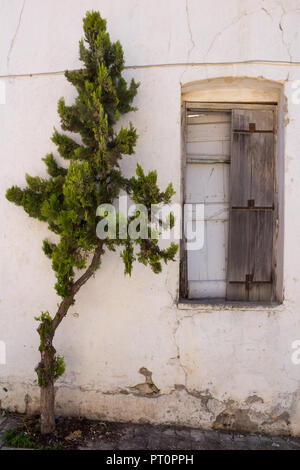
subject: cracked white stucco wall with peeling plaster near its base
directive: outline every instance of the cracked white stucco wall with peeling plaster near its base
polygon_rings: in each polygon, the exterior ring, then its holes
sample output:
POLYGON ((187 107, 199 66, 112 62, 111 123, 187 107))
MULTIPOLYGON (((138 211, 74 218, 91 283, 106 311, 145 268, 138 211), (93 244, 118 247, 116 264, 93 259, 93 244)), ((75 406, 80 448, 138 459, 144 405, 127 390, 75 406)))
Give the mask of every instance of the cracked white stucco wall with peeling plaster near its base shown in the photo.
MULTIPOLYGON (((300 0, 0 1, 1 406, 37 409, 34 316, 54 312, 59 301, 40 249, 46 227, 4 194, 24 184, 25 172, 44 175, 41 158, 56 153, 50 137, 59 126, 57 101, 75 96, 62 71, 79 67, 89 9, 99 10, 112 39, 121 40, 126 78, 141 82, 139 109, 124 119, 140 136, 124 171, 132 174, 136 162, 156 168, 162 186, 173 182, 178 201, 181 87, 187 92, 186 84, 217 77, 259 77, 281 87, 284 302, 268 309, 178 306, 178 262, 159 276, 136 265, 129 279, 118 254, 107 253, 57 331, 55 347, 67 363, 57 413, 300 434, 300 364, 291 361, 291 344, 300 339, 300 104, 292 88, 300 80, 300 0), (131 388, 144 381, 141 367, 153 373, 158 395, 131 388)), ((237 100, 262 97, 228 86, 207 96, 226 101, 234 93, 237 100)))

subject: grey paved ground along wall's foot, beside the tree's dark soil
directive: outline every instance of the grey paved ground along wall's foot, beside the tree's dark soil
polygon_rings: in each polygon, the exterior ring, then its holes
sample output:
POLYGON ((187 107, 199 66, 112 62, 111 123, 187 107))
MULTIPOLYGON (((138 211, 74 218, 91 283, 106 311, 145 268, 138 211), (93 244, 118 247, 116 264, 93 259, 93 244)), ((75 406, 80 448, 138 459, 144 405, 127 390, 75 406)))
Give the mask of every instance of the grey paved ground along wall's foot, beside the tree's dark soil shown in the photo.
MULTIPOLYGON (((18 424, 17 416, 0 417, 0 449, 6 430, 18 424)), ((90 450, 300 450, 300 437, 203 431, 176 426, 106 423, 106 432, 79 449, 90 450), (111 428, 111 429, 110 429, 111 428)))

